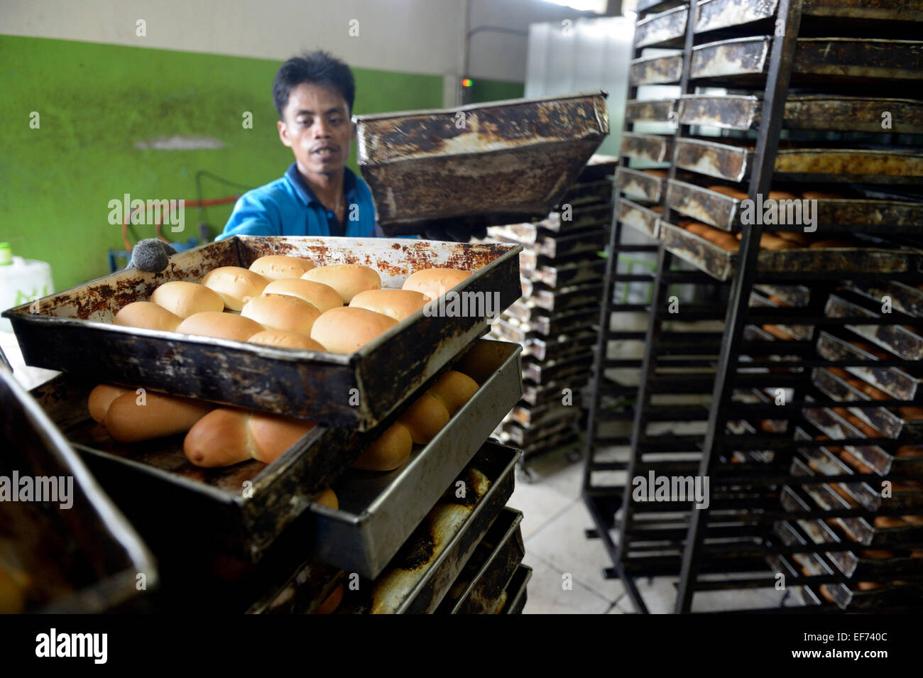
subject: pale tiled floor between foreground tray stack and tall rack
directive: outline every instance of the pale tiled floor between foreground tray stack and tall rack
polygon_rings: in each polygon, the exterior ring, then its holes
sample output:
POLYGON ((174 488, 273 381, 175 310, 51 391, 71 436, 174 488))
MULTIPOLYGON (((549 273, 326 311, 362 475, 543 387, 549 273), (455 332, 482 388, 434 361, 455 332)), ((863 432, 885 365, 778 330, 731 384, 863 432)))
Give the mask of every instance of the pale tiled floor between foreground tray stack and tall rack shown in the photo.
MULTIPOLYGON (((603 577, 603 569, 612 565, 603 542, 585 536, 585 530, 593 527, 593 519, 580 498, 582 461, 548 455, 535 459, 530 469, 533 482, 527 482, 517 471, 516 489, 509 499, 509 506, 523 514, 523 564, 533 568, 523 613, 634 613, 621 581, 603 577)), ((675 578, 644 578, 635 584, 649 612, 672 613, 675 578)), ((783 598, 781 591, 762 589, 716 591, 697 594, 693 611, 775 607, 783 598)))

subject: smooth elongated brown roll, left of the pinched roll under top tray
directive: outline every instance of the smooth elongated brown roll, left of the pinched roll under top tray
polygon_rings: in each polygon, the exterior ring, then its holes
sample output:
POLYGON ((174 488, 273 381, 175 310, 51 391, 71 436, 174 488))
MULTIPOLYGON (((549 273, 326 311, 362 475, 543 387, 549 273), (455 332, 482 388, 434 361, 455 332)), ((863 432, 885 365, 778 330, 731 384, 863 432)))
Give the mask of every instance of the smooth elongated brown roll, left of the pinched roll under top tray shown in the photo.
POLYGON ((131 391, 115 398, 106 411, 103 424, 119 443, 138 443, 160 438, 163 435, 181 434, 214 410, 215 406, 203 400, 162 396, 148 392, 142 404, 131 391))

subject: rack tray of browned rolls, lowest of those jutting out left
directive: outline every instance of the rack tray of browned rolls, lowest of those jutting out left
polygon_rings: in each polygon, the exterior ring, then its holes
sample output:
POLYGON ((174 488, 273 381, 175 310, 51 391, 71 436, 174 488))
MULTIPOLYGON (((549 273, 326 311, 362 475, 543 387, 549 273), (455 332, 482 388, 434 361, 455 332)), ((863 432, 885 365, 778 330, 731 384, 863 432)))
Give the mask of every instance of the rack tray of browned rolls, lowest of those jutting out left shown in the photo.
MULTIPOLYGON (((661 220, 660 238, 667 250, 717 280, 729 279, 737 267, 737 239, 707 224, 674 225, 661 220)), ((907 273, 917 271, 923 262, 923 252, 917 250, 862 246, 859 241, 823 235, 811 239, 797 232, 764 232, 760 243, 757 269, 766 272, 907 273), (808 245, 795 238, 805 239, 808 245)))

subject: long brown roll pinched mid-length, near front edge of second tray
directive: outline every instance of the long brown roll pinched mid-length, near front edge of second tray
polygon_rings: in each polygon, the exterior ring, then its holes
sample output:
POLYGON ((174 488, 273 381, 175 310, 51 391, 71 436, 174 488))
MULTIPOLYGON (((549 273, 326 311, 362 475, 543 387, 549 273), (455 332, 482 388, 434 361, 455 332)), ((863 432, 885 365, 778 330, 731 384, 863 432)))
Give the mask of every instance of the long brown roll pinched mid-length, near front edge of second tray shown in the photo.
POLYGON ((207 469, 251 458, 268 464, 316 425, 274 414, 221 408, 210 411, 189 429, 183 452, 191 463, 207 469))

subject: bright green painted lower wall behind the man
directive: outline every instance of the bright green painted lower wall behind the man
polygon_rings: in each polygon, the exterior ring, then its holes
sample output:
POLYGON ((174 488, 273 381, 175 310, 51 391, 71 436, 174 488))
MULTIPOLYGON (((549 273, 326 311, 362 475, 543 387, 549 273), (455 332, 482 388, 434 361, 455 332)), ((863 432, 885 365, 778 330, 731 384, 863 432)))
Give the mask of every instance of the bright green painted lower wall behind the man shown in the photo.
MULTIPOLYGON (((108 203, 195 197, 199 170, 248 186, 282 176, 292 152, 282 146, 272 106, 280 62, 0 35, 0 241, 19 256, 48 261, 57 290, 108 273, 107 250, 124 249, 108 203), (41 127, 30 128, 30 113, 41 127), (242 125, 253 113, 253 129, 242 125), (220 139, 223 149, 136 149, 174 135, 220 139)), ((439 108, 442 78, 354 69, 354 113, 439 108)), ((355 149, 350 166, 355 169, 355 149)), ((205 197, 234 190, 203 180, 205 197)), ((232 205, 207 208, 212 237, 232 205)), ((198 235, 195 208, 186 231, 198 235)), ((138 238, 153 226, 133 227, 138 238)))

